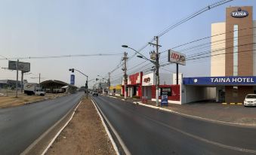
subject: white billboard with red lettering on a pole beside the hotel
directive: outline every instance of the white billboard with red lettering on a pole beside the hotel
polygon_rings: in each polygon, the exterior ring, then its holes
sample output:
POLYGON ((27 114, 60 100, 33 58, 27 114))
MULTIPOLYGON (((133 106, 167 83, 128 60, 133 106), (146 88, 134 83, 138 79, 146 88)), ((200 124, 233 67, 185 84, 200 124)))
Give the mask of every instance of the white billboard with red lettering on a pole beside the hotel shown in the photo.
POLYGON ((186 55, 183 53, 175 52, 174 50, 168 50, 168 62, 186 65, 186 55))

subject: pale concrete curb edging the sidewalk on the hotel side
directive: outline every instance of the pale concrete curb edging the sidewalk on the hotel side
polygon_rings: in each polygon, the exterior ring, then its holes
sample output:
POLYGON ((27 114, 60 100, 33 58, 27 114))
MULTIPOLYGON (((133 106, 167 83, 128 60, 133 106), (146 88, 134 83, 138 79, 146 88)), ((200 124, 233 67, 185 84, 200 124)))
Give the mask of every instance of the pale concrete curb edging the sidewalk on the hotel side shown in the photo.
MULTIPOLYGON (((118 98, 116 98, 116 99, 118 99, 118 98)), ((120 100, 122 100, 122 99, 120 99, 120 100)), ((147 105, 147 104, 144 104, 142 102, 132 102, 132 103, 134 103, 136 105, 142 105, 142 106, 148 107, 148 108, 155 108, 155 109, 158 109, 158 110, 161 110, 161 111, 167 111, 167 112, 170 112, 172 114, 179 114, 181 116, 190 117, 190 118, 197 119, 197 120, 205 120, 205 121, 208 121, 208 122, 220 123, 220 124, 230 125, 230 126, 242 126, 242 127, 256 128, 256 124, 254 124, 254 123, 237 123, 237 122, 227 122, 227 121, 223 121, 223 120, 212 120, 212 119, 208 119, 208 118, 205 118, 205 117, 197 117, 197 116, 193 116, 193 115, 190 115, 190 114, 184 114, 184 113, 180 113, 180 112, 177 112, 177 111, 172 111, 168 108, 162 108, 162 107, 156 107, 156 106, 153 106, 153 105, 147 105)))

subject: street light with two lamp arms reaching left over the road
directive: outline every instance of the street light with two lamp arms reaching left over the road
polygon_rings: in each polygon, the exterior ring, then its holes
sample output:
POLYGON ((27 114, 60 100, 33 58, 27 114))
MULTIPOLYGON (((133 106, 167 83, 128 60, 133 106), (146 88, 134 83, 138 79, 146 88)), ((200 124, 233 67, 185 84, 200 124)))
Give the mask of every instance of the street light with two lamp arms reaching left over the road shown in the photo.
MULTIPOLYGON (((158 44, 156 46, 159 46, 158 44)), ((130 48, 131 50, 134 50, 134 48, 128 47, 128 45, 123 44, 122 47, 124 48, 130 48)), ((158 50, 157 50, 158 51, 158 50)), ((156 66, 156 106, 159 106, 159 56, 157 53, 156 61, 153 61, 151 59, 148 59, 146 56, 143 56, 143 54, 139 53, 137 50, 134 50, 137 54, 139 54, 137 57, 140 59, 147 59, 148 61, 152 62, 156 66)))

